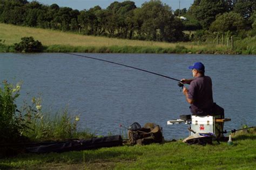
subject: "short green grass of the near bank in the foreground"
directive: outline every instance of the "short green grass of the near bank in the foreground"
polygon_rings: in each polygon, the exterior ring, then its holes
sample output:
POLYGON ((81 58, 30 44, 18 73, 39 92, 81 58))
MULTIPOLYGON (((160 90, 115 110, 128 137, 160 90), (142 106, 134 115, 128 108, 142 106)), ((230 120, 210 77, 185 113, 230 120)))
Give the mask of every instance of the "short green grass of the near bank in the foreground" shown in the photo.
POLYGON ((91 151, 22 154, 0 160, 0 168, 54 169, 254 169, 256 130, 234 137, 234 144, 187 145, 166 142, 91 151))

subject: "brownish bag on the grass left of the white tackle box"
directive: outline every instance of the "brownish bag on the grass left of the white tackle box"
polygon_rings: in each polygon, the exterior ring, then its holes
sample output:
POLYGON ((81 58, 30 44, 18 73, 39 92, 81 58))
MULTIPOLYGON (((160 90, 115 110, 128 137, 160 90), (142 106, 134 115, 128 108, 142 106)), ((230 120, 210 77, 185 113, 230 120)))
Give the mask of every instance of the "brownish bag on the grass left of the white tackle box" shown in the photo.
POLYGON ((163 142, 162 128, 159 125, 146 123, 143 127, 140 127, 138 123, 133 123, 130 127, 134 127, 134 124, 136 124, 138 128, 129 128, 128 135, 130 145, 146 145, 154 142, 163 142))

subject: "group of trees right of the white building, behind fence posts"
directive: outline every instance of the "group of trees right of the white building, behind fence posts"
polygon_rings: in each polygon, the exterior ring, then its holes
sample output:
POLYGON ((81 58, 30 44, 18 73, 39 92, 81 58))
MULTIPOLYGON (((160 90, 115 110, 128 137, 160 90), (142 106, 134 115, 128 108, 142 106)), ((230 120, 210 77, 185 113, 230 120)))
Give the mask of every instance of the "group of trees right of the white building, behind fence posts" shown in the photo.
POLYGON ((196 19, 204 35, 245 38, 256 35, 255 10, 255 0, 195 0, 186 14, 191 20, 196 19))

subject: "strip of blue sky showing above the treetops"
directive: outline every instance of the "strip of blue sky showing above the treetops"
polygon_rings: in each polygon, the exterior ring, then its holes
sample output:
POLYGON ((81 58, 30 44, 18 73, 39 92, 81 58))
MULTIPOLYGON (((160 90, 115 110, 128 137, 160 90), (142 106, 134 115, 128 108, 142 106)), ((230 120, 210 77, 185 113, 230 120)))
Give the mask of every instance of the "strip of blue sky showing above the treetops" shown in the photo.
MULTIPOLYGON (((28 0, 31 2, 32 0, 28 0)), ((116 0, 118 1, 118 0, 116 0)), ((148 2, 149 0, 133 0, 137 7, 142 6, 144 2, 148 2)), ((180 9, 186 8, 188 9, 194 0, 162 0, 164 4, 171 6, 172 10, 179 9, 179 1, 180 1, 180 9)), ((70 7, 72 9, 77 9, 79 11, 84 9, 93 8, 96 5, 99 5, 101 8, 105 9, 109 6, 114 0, 37 0, 45 5, 58 4, 60 7, 70 7)), ((118 1, 123 2, 123 1, 118 1)))

